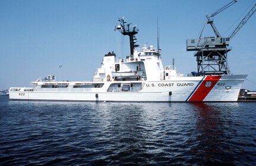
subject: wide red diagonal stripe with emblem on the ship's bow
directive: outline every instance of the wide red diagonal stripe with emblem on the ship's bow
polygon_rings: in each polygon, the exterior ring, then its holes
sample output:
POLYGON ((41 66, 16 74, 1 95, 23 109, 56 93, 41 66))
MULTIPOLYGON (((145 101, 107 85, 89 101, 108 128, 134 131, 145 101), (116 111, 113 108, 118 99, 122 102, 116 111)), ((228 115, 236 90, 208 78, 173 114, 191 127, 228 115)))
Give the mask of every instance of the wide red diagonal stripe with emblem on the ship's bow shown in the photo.
POLYGON ((222 76, 206 76, 188 101, 203 101, 222 76))

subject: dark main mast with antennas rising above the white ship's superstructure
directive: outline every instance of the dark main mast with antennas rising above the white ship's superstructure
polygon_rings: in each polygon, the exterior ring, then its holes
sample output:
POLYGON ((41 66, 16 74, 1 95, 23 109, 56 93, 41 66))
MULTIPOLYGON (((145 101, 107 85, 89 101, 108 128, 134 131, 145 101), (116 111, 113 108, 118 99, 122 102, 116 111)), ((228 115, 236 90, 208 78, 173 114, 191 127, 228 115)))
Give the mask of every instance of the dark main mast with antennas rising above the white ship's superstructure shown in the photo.
POLYGON ((121 32, 124 36, 128 35, 129 36, 129 46, 130 46, 130 52, 131 56, 134 55, 134 47, 138 47, 139 45, 135 44, 137 39, 135 38, 135 34, 138 33, 138 28, 136 28, 137 25, 132 26, 130 28, 130 24, 126 24, 127 22, 124 21, 124 18, 118 18, 118 21, 120 25, 116 27, 116 29, 121 32))

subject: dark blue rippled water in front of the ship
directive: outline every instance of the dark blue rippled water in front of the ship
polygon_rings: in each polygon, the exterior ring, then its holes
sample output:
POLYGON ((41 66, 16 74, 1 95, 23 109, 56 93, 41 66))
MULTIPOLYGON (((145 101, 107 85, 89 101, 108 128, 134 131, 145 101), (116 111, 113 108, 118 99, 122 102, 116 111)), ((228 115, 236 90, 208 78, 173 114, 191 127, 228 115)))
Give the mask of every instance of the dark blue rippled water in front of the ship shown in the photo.
POLYGON ((0 165, 255 165, 256 103, 0 96, 0 165))

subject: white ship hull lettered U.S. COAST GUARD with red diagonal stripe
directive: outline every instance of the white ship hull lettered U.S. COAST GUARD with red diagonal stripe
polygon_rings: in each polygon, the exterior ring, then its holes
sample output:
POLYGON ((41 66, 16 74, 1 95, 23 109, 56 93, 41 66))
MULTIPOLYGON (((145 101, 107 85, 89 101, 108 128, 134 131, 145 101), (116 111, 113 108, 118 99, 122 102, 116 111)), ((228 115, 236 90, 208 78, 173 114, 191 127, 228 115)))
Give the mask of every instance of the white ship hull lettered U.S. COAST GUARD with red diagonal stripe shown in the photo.
MULTIPOLYGON (((10 100, 197 102, 237 101, 247 75, 174 77, 169 81, 104 82, 100 88, 10 88, 10 100), (137 84, 141 88, 113 88, 111 84, 137 84)), ((94 82, 97 83, 97 82, 94 82)), ((99 82, 102 83, 102 82, 99 82)))

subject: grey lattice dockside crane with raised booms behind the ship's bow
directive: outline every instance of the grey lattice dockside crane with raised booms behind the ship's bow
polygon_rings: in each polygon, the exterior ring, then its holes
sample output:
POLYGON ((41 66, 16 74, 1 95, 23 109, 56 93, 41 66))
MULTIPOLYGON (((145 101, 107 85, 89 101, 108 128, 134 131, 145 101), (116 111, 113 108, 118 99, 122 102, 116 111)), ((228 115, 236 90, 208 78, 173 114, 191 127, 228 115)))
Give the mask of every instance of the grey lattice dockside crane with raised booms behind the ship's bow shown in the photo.
POLYGON ((200 33, 198 39, 187 39, 187 51, 196 51, 194 56, 197 59, 197 75, 229 75, 230 70, 227 64, 227 53, 232 50, 229 46, 230 39, 241 29, 241 27, 249 20, 256 10, 256 4, 248 12, 245 18, 239 23, 238 27, 233 31, 229 37, 222 37, 213 24, 213 17, 238 0, 231 1, 227 5, 213 12, 213 14, 206 15, 206 23, 200 33), (202 37, 206 24, 210 24, 213 28, 216 37, 202 37))

